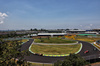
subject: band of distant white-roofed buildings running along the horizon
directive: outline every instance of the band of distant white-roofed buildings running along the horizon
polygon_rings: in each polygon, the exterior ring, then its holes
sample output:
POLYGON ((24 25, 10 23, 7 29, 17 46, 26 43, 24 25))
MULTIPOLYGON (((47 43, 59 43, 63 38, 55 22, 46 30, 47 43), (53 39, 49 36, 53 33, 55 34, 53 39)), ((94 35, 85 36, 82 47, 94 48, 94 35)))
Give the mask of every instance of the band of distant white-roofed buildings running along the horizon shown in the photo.
POLYGON ((81 29, 36 29, 36 30, 16 30, 0 31, 0 35, 6 34, 28 34, 28 36, 37 35, 63 35, 63 34, 100 34, 100 29, 81 30, 81 29))

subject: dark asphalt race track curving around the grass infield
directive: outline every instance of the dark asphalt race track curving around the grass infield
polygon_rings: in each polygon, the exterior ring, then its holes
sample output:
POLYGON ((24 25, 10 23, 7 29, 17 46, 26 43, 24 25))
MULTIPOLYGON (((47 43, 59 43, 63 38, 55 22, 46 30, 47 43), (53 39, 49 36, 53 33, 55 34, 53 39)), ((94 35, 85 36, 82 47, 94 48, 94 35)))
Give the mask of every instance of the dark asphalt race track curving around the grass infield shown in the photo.
MULTIPOLYGON (((33 39, 29 39, 28 42, 24 43, 21 47, 21 51, 28 50, 33 41, 34 41, 33 39)), ((83 47, 78 54, 80 54, 83 58, 85 58, 86 60, 89 60, 89 59, 98 58, 100 56, 100 51, 93 50, 95 48, 93 45, 91 45, 88 42, 83 42, 83 41, 79 41, 79 42, 82 43, 83 47), (89 53, 85 54, 84 51, 86 50, 89 50, 89 53)), ((57 60, 64 60, 65 57, 46 57, 46 56, 34 55, 30 52, 30 55, 24 56, 24 59, 30 62, 54 63, 57 60)))

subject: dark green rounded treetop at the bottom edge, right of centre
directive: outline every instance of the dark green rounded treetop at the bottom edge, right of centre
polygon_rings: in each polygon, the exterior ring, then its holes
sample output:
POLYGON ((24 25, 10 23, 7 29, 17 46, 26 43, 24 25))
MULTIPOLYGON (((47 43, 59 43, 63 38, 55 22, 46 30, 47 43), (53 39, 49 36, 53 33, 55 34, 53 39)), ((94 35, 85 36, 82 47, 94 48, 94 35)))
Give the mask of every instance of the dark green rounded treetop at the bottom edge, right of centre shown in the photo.
POLYGON ((88 64, 80 55, 70 54, 64 61, 57 61, 54 66, 84 66, 88 64))

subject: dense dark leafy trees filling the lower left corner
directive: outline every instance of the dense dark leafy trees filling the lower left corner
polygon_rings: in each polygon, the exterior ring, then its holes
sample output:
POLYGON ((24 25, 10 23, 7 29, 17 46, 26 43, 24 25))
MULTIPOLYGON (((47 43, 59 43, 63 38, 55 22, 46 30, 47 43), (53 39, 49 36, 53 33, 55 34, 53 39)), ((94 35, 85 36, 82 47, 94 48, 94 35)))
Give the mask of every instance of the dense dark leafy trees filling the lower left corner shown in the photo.
POLYGON ((28 66, 29 64, 22 60, 25 51, 20 51, 21 42, 0 40, 0 66, 28 66), (16 60, 18 58, 18 60, 16 60))

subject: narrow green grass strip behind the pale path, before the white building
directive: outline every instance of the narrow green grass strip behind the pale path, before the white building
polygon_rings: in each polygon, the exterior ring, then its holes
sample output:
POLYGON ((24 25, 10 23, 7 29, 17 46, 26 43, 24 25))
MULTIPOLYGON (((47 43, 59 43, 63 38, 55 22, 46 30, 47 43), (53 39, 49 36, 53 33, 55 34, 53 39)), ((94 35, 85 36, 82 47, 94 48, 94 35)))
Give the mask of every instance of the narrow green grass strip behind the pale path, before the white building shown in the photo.
POLYGON ((61 39, 61 38, 40 38, 40 39, 35 39, 36 43, 76 43, 76 41, 71 40, 71 39, 61 39))

